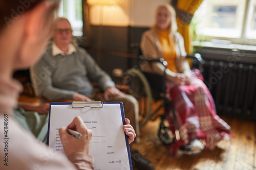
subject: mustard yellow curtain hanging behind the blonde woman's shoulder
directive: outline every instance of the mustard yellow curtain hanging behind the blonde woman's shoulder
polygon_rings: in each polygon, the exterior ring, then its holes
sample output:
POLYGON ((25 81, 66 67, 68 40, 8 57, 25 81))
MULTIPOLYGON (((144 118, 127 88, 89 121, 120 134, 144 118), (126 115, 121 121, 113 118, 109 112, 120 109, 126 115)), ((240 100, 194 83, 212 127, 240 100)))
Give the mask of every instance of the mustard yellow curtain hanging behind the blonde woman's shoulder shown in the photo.
MULTIPOLYGON (((183 10, 185 12, 188 12, 190 14, 194 14, 196 10, 199 8, 199 6, 202 4, 203 0, 178 0, 177 2, 177 8, 180 10, 183 10)), ((192 53, 192 38, 189 33, 189 25, 187 23, 184 23, 189 20, 189 16, 183 14, 181 18, 177 17, 177 25, 178 25, 178 31, 184 38, 185 43, 185 50, 187 54, 192 53)))

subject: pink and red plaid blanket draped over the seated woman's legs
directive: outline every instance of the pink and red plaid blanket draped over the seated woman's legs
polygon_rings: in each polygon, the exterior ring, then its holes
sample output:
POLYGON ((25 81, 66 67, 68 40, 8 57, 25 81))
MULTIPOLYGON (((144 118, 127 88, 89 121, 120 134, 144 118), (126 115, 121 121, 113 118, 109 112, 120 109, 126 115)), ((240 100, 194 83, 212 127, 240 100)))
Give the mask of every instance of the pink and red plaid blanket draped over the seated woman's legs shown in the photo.
MULTIPOLYGON (((199 70, 193 70, 190 85, 175 86, 166 82, 166 97, 175 106, 176 121, 181 140, 170 145, 175 155, 179 147, 188 144, 192 139, 204 139, 205 149, 213 150, 218 141, 230 134, 230 126, 217 114, 212 96, 203 82, 199 70)), ((173 132, 174 119, 171 110, 167 109, 166 119, 173 132)))

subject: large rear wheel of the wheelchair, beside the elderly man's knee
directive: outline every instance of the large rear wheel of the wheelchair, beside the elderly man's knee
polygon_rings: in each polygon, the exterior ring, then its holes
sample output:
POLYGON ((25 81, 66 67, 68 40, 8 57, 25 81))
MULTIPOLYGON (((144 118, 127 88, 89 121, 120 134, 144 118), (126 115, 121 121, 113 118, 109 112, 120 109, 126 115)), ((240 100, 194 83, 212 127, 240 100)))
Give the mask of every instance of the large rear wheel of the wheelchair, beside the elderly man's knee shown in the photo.
POLYGON ((139 102, 139 124, 144 126, 151 118, 152 92, 150 84, 139 69, 131 68, 123 75, 123 85, 129 86, 128 94, 139 102))

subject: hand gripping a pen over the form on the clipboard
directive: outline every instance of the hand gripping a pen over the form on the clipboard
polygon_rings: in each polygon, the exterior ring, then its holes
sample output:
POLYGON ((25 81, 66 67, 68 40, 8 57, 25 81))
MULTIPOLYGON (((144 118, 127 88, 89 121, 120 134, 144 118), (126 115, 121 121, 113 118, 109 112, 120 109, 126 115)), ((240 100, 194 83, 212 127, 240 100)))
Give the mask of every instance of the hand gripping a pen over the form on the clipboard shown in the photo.
POLYGON ((59 128, 59 136, 66 155, 83 152, 88 154, 92 140, 92 130, 84 125, 81 117, 76 116, 68 127, 59 128), (80 139, 75 138, 68 133, 68 129, 77 131, 82 134, 80 139))

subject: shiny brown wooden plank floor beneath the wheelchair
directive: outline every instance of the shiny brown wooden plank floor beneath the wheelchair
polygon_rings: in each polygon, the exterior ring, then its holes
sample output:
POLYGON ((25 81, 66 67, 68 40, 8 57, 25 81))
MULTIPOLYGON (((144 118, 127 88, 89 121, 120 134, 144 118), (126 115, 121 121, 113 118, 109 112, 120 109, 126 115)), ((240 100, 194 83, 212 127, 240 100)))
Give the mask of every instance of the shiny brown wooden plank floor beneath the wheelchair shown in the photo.
POLYGON ((228 123, 234 138, 220 141, 214 151, 203 151, 198 155, 182 155, 173 158, 157 138, 160 120, 148 122, 140 129, 140 143, 133 148, 152 161, 156 170, 245 170, 256 169, 255 123, 221 117, 228 123))

